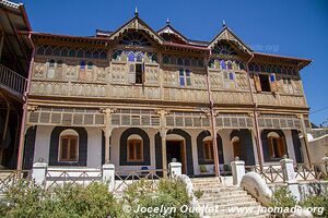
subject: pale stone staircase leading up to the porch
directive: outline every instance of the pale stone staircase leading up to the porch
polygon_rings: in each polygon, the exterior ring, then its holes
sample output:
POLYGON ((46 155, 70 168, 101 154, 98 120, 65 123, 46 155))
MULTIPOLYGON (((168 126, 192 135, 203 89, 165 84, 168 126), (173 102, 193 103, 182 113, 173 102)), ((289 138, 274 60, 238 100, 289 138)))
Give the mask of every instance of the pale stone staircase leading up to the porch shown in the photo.
POLYGON ((194 178, 191 181, 194 191, 203 192, 198 202, 201 208, 208 208, 204 218, 268 217, 259 213, 263 207, 242 187, 223 185, 218 178, 194 178))

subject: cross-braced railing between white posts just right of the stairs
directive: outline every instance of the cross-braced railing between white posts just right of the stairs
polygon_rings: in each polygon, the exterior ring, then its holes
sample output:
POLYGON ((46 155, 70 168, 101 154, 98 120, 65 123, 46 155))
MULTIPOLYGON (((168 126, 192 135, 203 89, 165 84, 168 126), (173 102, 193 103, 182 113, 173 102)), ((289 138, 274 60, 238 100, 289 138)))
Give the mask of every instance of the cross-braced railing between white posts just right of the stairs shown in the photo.
POLYGON ((267 183, 283 182, 283 173, 280 165, 245 166, 246 171, 254 171, 261 175, 267 183))

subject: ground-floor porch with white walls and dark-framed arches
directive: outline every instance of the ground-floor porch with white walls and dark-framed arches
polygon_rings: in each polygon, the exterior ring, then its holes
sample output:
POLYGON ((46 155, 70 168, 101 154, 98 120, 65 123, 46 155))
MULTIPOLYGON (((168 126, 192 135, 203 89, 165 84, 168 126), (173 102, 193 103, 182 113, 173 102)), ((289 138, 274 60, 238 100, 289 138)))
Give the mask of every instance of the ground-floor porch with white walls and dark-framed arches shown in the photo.
MULTIPOLYGON (((219 130, 216 144, 221 174, 230 174, 230 164, 236 156, 246 166, 279 164, 288 155, 294 162, 303 162, 297 130, 261 130, 261 145, 256 145, 251 130, 219 130)), ((112 130, 109 162, 121 175, 128 171, 161 170, 175 159, 183 165, 183 173, 190 177, 214 174, 212 137, 209 131, 172 129, 163 140, 159 130, 151 128, 116 128, 112 130)), ((27 129, 24 169, 32 169, 40 159, 49 167, 68 169, 101 169, 106 162, 105 134, 99 128, 46 126, 27 129)))

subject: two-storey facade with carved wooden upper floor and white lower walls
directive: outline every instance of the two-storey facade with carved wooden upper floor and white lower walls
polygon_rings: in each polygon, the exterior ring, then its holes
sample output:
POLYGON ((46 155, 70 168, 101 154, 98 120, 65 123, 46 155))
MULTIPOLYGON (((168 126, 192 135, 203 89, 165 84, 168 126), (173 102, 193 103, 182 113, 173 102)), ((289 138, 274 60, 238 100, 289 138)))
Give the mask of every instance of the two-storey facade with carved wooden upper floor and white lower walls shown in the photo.
POLYGON ((300 135, 308 106, 300 71, 309 60, 253 51, 227 26, 191 40, 139 14, 94 37, 26 33, 35 46, 23 168, 166 169, 214 173, 284 155, 307 161, 300 135), (216 143, 213 143, 213 138, 216 143))

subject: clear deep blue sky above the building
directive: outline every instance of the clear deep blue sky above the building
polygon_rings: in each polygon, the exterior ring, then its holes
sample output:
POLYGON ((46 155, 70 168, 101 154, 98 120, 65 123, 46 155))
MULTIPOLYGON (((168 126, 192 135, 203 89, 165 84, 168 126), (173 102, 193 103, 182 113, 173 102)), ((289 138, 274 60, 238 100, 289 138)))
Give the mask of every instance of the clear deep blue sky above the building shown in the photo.
MULTIPOLYGON (((17 1, 16 1, 17 2, 17 1)), ((171 24, 187 38, 211 40, 222 21, 255 51, 314 60, 301 71, 311 120, 328 125, 326 0, 22 0, 33 31, 93 36, 139 16, 153 29, 171 24)))

